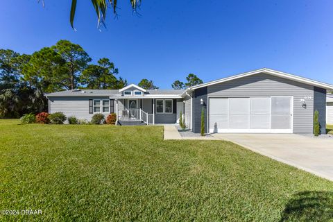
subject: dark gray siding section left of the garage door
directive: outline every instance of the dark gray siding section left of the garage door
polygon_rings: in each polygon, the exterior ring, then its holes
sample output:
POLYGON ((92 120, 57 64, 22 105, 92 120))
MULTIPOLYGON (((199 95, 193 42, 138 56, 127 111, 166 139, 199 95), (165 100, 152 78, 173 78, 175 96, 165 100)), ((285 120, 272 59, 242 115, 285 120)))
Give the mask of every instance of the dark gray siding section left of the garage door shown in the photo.
POLYGON ((205 112, 205 133, 207 130, 207 87, 202 87, 199 89, 195 89, 193 92, 192 99, 192 109, 193 109, 193 117, 192 117, 192 131, 194 133, 200 133, 201 128, 201 110, 203 109, 205 112), (203 105, 200 104, 200 99, 203 99, 203 105))

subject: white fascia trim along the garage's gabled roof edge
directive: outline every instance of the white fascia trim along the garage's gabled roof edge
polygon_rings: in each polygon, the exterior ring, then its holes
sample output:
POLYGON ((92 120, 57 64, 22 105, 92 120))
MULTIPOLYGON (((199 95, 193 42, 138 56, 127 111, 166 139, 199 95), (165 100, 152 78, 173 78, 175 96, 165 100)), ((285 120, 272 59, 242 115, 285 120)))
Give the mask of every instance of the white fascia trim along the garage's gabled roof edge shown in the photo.
POLYGON ((284 73, 282 71, 275 71, 273 69, 266 69, 266 68, 257 69, 255 71, 249 71, 249 72, 246 72, 244 74, 239 74, 239 75, 236 75, 236 76, 221 78, 219 80, 214 80, 214 81, 211 81, 211 82, 208 82, 208 83, 203 83, 203 84, 200 84, 200 85, 195 85, 193 87, 190 87, 189 89, 198 89, 198 88, 201 88, 201 87, 215 85, 215 84, 218 84, 218 83, 224 83, 224 82, 228 82, 230 80, 234 80, 234 79, 237 79, 237 78, 243 78, 243 77, 246 77, 246 76, 252 76, 252 75, 255 75, 255 74, 259 74, 259 73, 269 74, 269 75, 272 75, 272 76, 278 76, 278 77, 281 77, 281 78, 287 78, 287 79, 290 79, 290 80, 295 80, 295 81, 300 82, 300 83, 305 83, 305 84, 308 84, 308 85, 314 85, 316 87, 321 87, 321 88, 324 88, 324 89, 333 89, 333 85, 330 85, 330 84, 327 84, 327 83, 321 83, 321 82, 318 82, 316 80, 311 80, 309 78, 295 76, 295 75, 292 75, 292 74, 284 73))

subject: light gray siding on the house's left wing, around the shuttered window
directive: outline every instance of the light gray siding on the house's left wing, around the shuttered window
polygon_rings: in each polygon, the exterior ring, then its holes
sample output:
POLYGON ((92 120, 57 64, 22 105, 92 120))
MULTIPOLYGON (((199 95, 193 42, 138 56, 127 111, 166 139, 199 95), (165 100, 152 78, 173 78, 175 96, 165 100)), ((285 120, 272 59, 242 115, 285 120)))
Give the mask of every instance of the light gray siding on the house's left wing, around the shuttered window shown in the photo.
MULTIPOLYGON (((63 112, 66 117, 74 116, 78 119, 90 121, 94 114, 89 114, 89 99, 109 99, 106 97, 59 96, 49 99, 49 112, 63 112)), ((114 105, 115 107, 115 105, 114 105)), ((108 114, 105 114, 107 116, 108 114)))

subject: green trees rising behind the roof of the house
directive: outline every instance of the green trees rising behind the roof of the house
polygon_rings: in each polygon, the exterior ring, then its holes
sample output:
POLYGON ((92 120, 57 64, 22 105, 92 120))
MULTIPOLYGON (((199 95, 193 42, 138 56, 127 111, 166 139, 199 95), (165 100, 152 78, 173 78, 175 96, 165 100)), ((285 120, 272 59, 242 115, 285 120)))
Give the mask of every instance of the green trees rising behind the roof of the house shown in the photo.
MULTIPOLYGON (((47 110, 46 93, 71 89, 121 89, 128 85, 108 58, 92 64, 82 46, 60 40, 31 55, 0 49, 0 118, 20 117, 47 110)), ((173 89, 202 83, 189 74, 187 83, 176 80, 173 89)), ((153 80, 142 79, 144 89, 158 89, 153 80)))

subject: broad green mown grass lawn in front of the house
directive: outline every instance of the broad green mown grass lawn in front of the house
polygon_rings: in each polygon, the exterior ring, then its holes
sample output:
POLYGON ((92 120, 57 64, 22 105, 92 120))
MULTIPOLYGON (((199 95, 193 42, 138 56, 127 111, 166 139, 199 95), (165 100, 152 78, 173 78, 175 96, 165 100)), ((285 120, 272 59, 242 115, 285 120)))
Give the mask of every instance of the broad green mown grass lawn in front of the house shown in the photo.
POLYGON ((333 182, 161 126, 0 120, 0 221, 327 221, 333 182))

